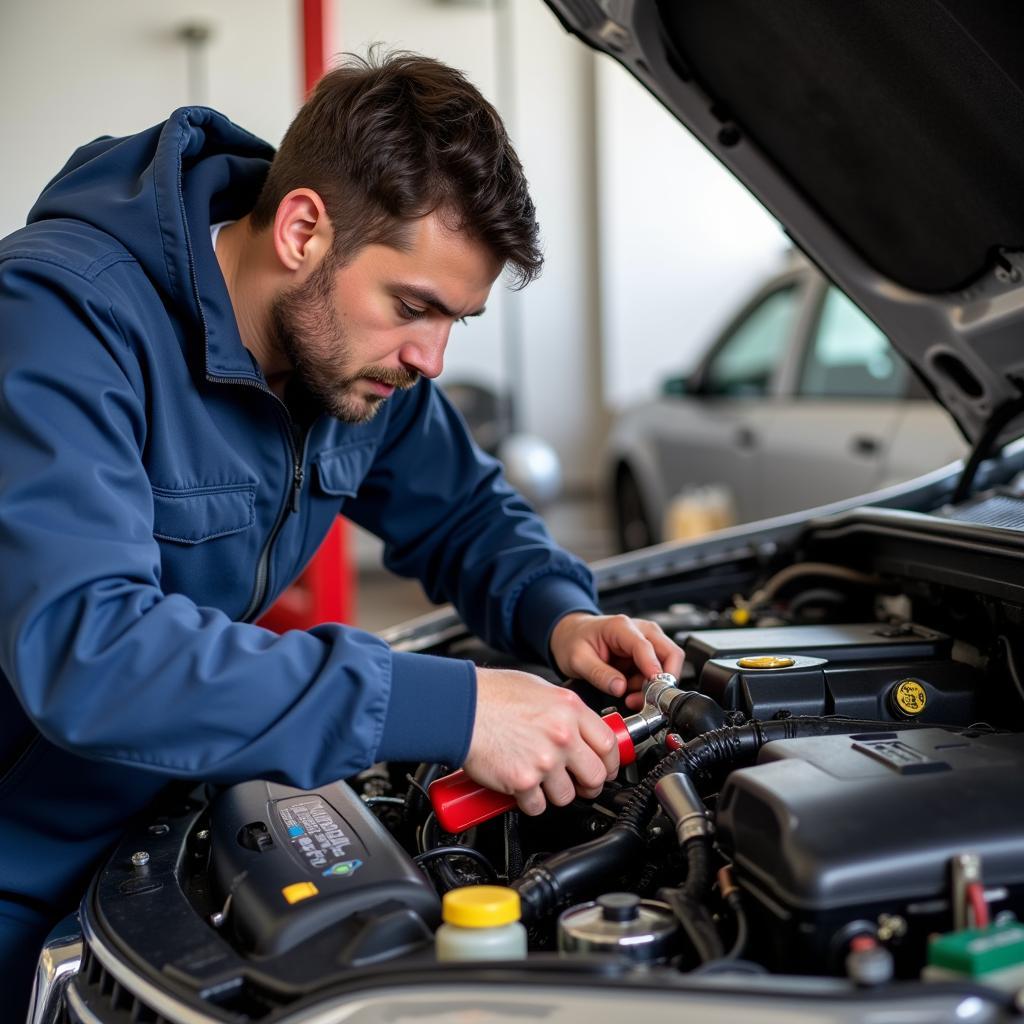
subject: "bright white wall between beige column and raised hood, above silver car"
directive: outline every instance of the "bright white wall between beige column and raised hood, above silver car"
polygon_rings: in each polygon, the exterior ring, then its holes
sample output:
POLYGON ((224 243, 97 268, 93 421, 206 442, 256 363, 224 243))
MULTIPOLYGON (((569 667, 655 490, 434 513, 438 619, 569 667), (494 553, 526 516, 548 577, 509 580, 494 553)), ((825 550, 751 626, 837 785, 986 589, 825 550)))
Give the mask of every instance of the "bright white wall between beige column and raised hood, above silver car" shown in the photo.
POLYGON ((688 370, 778 268, 773 218, 620 65, 598 57, 598 216, 605 400, 688 370))

